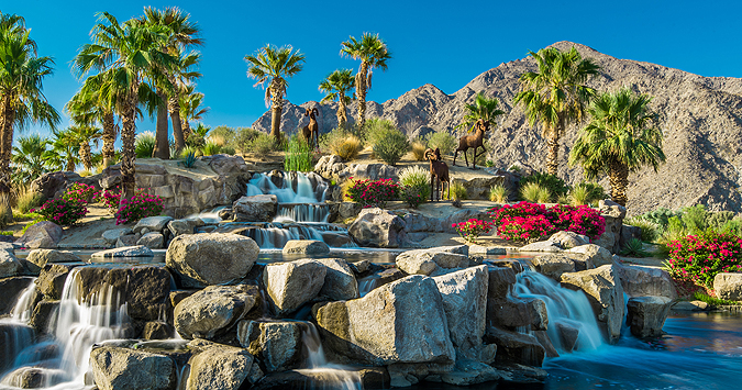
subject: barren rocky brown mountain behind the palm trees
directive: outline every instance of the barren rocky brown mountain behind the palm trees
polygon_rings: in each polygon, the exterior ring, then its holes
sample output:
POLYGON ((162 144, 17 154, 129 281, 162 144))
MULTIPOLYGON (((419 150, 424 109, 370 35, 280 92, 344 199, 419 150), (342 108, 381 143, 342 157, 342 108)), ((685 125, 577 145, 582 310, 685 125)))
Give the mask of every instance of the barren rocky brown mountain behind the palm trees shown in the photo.
MULTIPOLYGON (((658 207, 678 209, 696 203, 710 210, 742 211, 742 79, 702 77, 661 65, 614 58, 590 47, 558 42, 553 46, 575 46, 584 57, 595 59, 601 74, 588 85, 599 91, 627 86, 654 97, 652 108, 661 115, 666 164, 657 172, 651 168, 629 176, 629 212, 636 214, 658 207)), ((487 149, 496 167, 507 168, 521 163, 545 170, 546 143, 539 126, 531 127, 512 99, 518 92, 518 78, 535 70, 530 58, 517 59, 485 71, 453 94, 445 94, 432 85, 413 89, 383 104, 369 102, 367 118, 391 120, 412 134, 420 126, 456 134, 454 129, 464 116, 464 104, 478 91, 497 97, 508 113, 490 132, 487 149)), ((373 97, 373 93, 372 93, 373 97)), ((307 102, 301 107, 287 102, 281 129, 292 132, 308 122, 301 116, 304 107, 320 109, 320 129, 328 132, 336 125, 336 104, 307 102)), ((348 118, 355 115, 352 104, 348 118)), ((584 124, 582 124, 584 125, 584 124)), ((560 176, 568 182, 583 180, 579 167, 567 166, 567 155, 582 125, 568 129, 560 152, 560 176)), ((253 127, 267 131, 270 114, 258 119, 253 127)), ((458 135, 458 134, 457 134, 458 135)), ((607 180, 601 181, 608 190, 607 180)))

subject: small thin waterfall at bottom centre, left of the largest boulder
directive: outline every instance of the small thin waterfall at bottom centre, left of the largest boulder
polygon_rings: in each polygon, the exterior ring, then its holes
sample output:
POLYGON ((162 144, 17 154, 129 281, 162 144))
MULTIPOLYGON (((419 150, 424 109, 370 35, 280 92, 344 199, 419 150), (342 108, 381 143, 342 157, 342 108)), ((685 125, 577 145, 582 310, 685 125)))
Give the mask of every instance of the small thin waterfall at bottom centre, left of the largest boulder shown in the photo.
POLYGON ((363 385, 361 376, 354 370, 345 366, 332 364, 328 361, 324 350, 322 349, 322 341, 317 332, 314 324, 310 322, 302 322, 301 339, 304 343, 304 350, 307 353, 306 369, 298 370, 308 377, 318 377, 330 383, 322 386, 322 388, 340 388, 348 390, 361 390, 363 385))

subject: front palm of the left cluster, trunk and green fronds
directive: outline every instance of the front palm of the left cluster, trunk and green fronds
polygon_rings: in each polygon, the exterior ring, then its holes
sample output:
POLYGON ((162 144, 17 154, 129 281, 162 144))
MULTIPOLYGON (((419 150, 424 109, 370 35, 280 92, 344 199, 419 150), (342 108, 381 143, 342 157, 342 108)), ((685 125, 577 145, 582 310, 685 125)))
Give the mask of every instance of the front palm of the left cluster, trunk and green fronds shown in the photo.
POLYGON ((121 200, 134 196, 134 136, 140 87, 147 71, 153 68, 168 69, 176 59, 162 51, 170 31, 163 25, 145 25, 135 21, 120 24, 108 12, 99 14, 92 29, 92 44, 86 44, 75 57, 80 75, 90 70, 111 70, 117 90, 115 113, 121 118, 121 200))

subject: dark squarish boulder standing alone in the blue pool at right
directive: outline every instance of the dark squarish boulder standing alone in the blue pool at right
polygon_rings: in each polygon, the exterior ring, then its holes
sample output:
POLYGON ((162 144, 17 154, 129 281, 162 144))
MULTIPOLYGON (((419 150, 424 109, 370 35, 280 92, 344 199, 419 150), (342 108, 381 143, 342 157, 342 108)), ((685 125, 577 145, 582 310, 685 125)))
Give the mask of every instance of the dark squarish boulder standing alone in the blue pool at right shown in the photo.
POLYGON ((634 297, 627 303, 627 323, 636 337, 662 336, 673 301, 665 297, 634 297))

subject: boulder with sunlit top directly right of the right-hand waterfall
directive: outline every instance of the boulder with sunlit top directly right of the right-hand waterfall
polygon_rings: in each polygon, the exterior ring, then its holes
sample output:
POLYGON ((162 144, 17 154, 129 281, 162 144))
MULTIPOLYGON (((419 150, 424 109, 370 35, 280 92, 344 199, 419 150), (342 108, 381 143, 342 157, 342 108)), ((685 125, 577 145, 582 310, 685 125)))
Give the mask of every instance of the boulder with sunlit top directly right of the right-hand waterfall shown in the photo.
POLYGON ((596 269, 562 274, 562 286, 585 291, 598 321, 606 324, 610 342, 617 342, 621 335, 625 308, 618 267, 606 265, 596 269))

